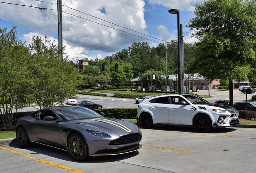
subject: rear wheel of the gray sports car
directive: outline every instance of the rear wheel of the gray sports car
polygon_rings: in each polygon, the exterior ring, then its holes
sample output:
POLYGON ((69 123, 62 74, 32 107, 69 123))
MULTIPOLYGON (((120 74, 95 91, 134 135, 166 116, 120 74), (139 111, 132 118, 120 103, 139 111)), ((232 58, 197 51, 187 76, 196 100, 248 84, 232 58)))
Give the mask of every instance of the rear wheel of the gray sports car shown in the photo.
POLYGON ((30 145, 30 140, 24 127, 19 126, 16 130, 16 139, 19 147, 27 148, 30 145))

